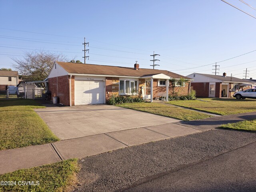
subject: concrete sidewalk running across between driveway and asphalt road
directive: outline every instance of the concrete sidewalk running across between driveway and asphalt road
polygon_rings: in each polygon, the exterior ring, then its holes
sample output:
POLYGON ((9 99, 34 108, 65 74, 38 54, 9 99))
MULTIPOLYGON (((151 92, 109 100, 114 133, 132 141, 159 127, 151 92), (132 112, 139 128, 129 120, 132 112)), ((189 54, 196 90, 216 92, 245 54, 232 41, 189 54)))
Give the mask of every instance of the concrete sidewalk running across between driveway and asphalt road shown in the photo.
POLYGON ((217 128, 221 124, 255 118, 256 112, 220 116, 204 120, 175 122, 108 132, 26 148, 2 150, 0 151, 0 174, 70 158, 84 158, 127 146, 199 133, 217 128))

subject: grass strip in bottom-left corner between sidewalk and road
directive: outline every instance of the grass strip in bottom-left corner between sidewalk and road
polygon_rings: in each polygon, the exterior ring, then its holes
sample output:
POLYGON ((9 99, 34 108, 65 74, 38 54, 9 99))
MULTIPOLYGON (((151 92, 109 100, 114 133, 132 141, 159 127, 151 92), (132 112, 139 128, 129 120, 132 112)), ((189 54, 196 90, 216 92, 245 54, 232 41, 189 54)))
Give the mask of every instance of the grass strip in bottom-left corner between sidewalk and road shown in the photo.
POLYGON ((72 189, 77 183, 76 173, 79 171, 76 159, 64 160, 54 164, 17 170, 0 176, 0 181, 16 181, 13 186, 1 186, 0 192, 60 192, 72 189), (18 185, 18 181, 36 181, 39 185, 18 185))

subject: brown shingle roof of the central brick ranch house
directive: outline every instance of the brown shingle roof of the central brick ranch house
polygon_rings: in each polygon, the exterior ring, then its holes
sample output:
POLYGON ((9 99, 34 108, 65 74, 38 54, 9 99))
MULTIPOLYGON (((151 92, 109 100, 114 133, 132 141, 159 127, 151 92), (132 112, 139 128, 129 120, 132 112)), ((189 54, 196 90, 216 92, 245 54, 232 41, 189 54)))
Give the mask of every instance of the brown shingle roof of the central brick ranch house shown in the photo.
POLYGON ((130 67, 119 67, 119 66, 106 66, 106 65, 96 65, 96 64, 78 64, 78 63, 68 63, 68 62, 57 62, 62 68, 64 68, 68 73, 75 74, 95 74, 95 75, 116 75, 116 76, 133 76, 133 77, 143 77, 152 76, 155 74, 165 74, 172 78, 186 78, 188 77, 167 71, 158 69, 144 69, 135 70, 130 67))

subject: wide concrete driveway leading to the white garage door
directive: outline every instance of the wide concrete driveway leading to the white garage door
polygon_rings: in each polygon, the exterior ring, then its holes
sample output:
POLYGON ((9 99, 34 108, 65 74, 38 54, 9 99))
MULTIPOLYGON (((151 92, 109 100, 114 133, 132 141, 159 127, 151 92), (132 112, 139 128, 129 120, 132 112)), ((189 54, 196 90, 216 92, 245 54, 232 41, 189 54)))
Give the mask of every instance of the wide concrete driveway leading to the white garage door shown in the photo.
POLYGON ((35 111, 61 140, 180 121, 110 105, 48 107, 35 111))

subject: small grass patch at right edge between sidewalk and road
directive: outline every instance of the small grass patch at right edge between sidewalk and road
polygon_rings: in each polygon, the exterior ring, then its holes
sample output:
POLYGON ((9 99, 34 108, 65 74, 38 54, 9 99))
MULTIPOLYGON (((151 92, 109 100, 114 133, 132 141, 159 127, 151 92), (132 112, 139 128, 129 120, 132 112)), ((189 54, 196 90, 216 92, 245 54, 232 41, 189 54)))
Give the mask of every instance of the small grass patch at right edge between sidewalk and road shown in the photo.
POLYGON ((228 128, 228 129, 244 130, 244 131, 256 131, 256 120, 228 123, 220 126, 220 128, 228 128))

